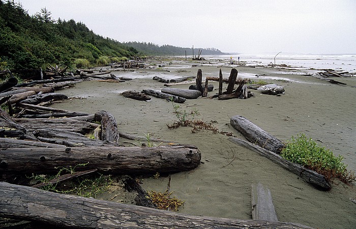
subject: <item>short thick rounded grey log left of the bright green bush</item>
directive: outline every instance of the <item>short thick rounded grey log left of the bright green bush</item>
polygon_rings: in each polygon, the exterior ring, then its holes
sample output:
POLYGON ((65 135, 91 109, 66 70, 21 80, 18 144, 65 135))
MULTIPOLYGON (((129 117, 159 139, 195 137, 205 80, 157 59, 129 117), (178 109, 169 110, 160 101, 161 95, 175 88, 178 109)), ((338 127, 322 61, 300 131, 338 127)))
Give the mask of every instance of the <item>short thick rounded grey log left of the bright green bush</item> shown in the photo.
POLYGON ((279 139, 265 132, 263 129, 241 115, 231 117, 230 124, 249 142, 259 145, 264 149, 268 149, 279 154, 284 147, 284 144, 279 139))

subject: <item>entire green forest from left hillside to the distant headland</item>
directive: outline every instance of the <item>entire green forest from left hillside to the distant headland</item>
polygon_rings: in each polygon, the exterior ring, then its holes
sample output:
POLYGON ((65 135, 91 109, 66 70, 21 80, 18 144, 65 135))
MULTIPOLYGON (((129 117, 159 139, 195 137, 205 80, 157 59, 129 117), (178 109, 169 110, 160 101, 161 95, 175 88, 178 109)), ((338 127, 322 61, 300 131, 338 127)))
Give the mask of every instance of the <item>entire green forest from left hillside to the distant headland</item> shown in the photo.
MULTIPOLYGON (((135 56, 192 54, 191 48, 104 38, 82 22, 53 19, 46 8, 29 15, 21 4, 10 0, 0 0, 0 38, 0 70, 39 69, 48 64, 85 68, 135 56)), ((222 53, 211 48, 202 54, 222 53)))

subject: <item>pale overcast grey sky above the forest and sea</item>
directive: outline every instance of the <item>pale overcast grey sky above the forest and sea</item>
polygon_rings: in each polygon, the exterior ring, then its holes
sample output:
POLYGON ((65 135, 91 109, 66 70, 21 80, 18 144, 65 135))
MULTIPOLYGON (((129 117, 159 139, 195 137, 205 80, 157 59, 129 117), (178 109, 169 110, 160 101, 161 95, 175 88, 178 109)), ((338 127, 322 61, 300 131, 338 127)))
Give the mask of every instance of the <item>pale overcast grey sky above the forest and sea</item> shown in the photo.
POLYGON ((120 42, 248 54, 356 53, 356 1, 15 0, 120 42))

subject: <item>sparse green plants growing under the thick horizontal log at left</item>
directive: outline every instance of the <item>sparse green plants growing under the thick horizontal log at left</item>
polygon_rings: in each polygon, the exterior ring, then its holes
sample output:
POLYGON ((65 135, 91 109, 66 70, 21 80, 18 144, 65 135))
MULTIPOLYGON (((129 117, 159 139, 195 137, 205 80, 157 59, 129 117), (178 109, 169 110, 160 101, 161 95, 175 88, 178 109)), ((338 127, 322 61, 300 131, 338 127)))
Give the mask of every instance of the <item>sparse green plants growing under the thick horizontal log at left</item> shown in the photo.
POLYGON ((86 166, 88 163, 81 163, 74 167, 69 168, 60 167, 57 174, 53 176, 48 175, 34 175, 32 174, 30 179, 33 179, 40 183, 47 183, 45 186, 40 187, 42 190, 52 191, 57 193, 74 194, 80 197, 93 197, 96 198, 97 194, 102 193, 108 189, 112 180, 109 176, 95 176, 92 179, 77 178, 75 181, 60 185, 59 182, 50 183, 49 181, 59 178, 64 174, 73 174, 75 169, 79 166, 86 166))

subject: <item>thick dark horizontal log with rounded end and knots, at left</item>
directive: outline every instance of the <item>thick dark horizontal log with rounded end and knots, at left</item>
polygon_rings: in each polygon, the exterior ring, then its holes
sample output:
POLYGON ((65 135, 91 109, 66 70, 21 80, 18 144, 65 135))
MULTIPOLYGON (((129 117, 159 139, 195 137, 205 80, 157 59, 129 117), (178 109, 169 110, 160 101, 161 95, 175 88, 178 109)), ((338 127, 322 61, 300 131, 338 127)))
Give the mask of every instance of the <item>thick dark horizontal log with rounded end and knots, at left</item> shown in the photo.
POLYGON ((175 173, 192 170, 200 164, 195 146, 159 147, 54 147, 0 149, 0 173, 51 174, 55 167, 76 166, 78 171, 98 169, 106 174, 175 173))

